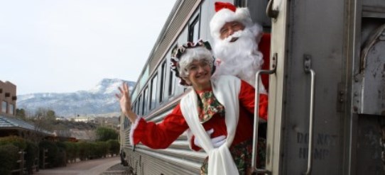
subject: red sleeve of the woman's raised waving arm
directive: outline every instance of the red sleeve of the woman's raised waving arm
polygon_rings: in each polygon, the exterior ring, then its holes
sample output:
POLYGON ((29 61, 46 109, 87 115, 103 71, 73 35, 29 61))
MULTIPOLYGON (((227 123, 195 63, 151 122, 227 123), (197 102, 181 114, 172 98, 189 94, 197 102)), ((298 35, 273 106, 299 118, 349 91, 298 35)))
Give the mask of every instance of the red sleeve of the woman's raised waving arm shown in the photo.
POLYGON ((178 104, 161 123, 146 122, 141 118, 131 132, 134 132, 132 133, 134 145, 141 142, 153 149, 165 149, 187 129, 188 125, 178 104))

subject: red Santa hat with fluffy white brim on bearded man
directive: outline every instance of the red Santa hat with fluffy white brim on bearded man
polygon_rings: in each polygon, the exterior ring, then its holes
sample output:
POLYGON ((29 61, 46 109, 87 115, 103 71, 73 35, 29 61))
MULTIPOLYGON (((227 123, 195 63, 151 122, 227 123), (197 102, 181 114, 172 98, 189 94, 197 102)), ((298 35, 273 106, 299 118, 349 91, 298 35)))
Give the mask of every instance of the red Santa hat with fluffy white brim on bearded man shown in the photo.
POLYGON ((233 4, 224 2, 215 2, 216 13, 212 16, 210 21, 211 35, 215 39, 219 39, 219 30, 225 23, 238 21, 242 23, 245 28, 253 26, 249 9, 237 8, 233 4))

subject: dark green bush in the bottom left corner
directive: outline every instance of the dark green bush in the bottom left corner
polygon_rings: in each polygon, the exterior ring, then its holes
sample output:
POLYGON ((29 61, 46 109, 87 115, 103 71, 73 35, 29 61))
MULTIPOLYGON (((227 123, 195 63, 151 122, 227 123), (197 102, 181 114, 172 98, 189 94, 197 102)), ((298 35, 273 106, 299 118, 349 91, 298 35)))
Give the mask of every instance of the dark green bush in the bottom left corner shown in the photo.
POLYGON ((13 144, 0 146, 0 174, 11 174, 13 169, 17 169, 16 161, 19 159, 18 147, 13 144))

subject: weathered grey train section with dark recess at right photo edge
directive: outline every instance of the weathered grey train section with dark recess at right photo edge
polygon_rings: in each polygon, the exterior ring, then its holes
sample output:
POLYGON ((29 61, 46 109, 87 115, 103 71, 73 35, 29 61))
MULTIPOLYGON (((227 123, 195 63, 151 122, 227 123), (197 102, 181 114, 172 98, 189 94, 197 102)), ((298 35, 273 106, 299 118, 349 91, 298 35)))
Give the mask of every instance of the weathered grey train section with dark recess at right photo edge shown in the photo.
POLYGON ((385 174, 385 1, 354 1, 351 174, 385 174))

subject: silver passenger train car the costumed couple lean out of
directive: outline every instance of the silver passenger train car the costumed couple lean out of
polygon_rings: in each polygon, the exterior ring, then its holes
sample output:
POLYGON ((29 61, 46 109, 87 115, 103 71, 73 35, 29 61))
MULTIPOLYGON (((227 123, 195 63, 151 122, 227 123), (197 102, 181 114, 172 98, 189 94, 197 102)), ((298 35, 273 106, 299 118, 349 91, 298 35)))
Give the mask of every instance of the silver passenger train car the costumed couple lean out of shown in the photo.
MULTIPOLYGON (((247 6, 271 33, 266 167, 258 171, 385 174, 385 1, 227 1, 247 6)), ((161 122, 184 95, 171 50, 212 41, 214 2, 175 2, 131 91, 146 120, 161 122)), ((134 149, 129 132, 121 118, 122 163, 134 174, 199 174, 206 154, 191 151, 185 135, 168 149, 134 149)))

